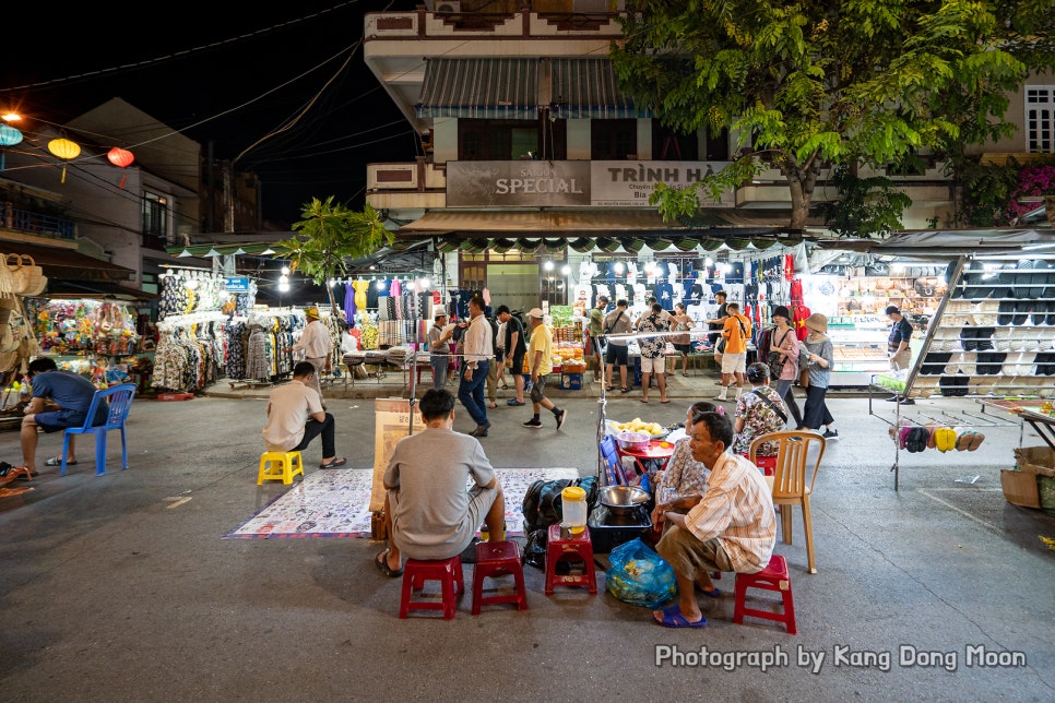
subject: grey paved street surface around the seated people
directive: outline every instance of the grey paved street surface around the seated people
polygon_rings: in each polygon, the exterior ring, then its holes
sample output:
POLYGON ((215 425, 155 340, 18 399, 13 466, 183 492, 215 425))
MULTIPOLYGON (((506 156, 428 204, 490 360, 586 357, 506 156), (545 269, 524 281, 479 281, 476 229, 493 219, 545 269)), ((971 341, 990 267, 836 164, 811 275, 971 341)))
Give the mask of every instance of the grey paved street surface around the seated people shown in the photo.
MULTIPOLYGON (((694 383, 697 396, 713 389, 703 377, 694 383)), ((87 441, 75 470, 49 469, 34 492, 0 501, 0 698, 1055 698, 1055 552, 1038 539, 1055 537, 1055 517, 1008 504, 999 489, 1017 426, 988 428, 974 453, 902 453, 894 491, 886 425, 864 400, 834 400, 842 439, 825 458, 813 510, 819 573, 805 572, 797 514, 794 544, 778 543, 798 635, 761 621, 732 624, 730 596, 702 604, 707 629, 664 630, 603 589, 547 598, 530 568, 525 612, 496 606, 473 617, 464 598, 453 621, 404 621, 400 583, 370 565, 378 547, 368 539, 222 539, 286 488, 256 486, 266 393, 213 391, 182 403, 138 401, 128 472, 114 470, 111 446, 110 469, 94 476, 87 441), (973 485, 957 482, 974 476, 973 485), (706 666, 657 670, 656 647, 668 646, 706 647, 706 666), (938 654, 924 662, 912 652, 938 654), (764 674, 752 658, 763 654, 777 658, 764 674)), ((687 384, 664 406, 614 397, 605 409, 619 420, 673 422, 691 391, 687 384)), ((372 403, 334 395, 339 451, 366 469, 372 403)), ((528 408, 495 410, 483 440, 493 463, 593 472, 601 405, 582 395, 559 401, 571 418, 560 432, 521 428, 528 408)), ((952 408, 976 406, 945 400, 915 412, 952 408)), ((464 413, 455 428, 472 429, 464 413)), ((43 439, 40 456, 60 443, 43 439)), ((1040 440, 1027 432, 1024 443, 1040 440)), ((0 458, 17 456, 17 433, 0 433, 0 458)), ((317 445, 306 460, 318 464, 317 445)))

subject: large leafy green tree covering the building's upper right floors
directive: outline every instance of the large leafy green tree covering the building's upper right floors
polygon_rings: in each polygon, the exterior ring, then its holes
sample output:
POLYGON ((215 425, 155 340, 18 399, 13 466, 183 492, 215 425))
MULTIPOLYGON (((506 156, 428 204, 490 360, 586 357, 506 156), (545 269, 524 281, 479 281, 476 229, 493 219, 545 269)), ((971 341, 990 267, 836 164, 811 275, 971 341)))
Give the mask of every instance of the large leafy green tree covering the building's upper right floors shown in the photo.
POLYGON ((656 189, 667 219, 770 166, 787 182, 789 227, 802 229, 823 166, 881 167, 1009 134, 1008 93, 1052 65, 1050 0, 628 5, 612 48, 620 87, 672 129, 737 135, 722 171, 656 189))

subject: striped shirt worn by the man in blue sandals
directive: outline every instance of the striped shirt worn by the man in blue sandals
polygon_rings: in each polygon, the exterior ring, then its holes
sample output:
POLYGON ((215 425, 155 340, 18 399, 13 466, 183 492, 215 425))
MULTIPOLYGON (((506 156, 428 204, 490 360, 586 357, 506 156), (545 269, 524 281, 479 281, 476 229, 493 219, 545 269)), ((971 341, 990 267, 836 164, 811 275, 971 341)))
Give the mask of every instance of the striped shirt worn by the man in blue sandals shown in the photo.
POLYGON ((758 573, 777 544, 773 493, 762 473, 743 456, 719 456, 703 500, 689 511, 685 526, 700 541, 718 538, 737 573, 758 573))

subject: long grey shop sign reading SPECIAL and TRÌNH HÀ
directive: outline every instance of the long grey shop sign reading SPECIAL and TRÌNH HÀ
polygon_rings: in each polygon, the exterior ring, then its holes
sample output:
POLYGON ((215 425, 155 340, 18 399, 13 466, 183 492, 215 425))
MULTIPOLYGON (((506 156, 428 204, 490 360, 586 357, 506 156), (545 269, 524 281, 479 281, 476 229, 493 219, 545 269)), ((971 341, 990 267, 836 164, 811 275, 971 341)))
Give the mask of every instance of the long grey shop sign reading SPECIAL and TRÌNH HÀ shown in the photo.
MULTIPOLYGON (((448 162, 448 207, 650 207, 657 183, 684 188, 720 170, 709 162, 448 162)), ((702 198, 702 194, 701 194, 702 198)), ((734 194, 710 207, 732 207, 734 194)))

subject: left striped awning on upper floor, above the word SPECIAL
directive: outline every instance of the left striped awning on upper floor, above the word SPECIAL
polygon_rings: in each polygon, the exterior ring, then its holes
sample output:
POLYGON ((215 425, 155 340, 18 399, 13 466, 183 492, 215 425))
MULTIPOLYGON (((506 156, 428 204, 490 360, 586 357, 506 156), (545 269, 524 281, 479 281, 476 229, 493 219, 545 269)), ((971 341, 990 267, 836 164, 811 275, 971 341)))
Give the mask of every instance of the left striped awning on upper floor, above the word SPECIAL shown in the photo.
POLYGON ((428 59, 418 117, 538 118, 537 59, 428 59))

